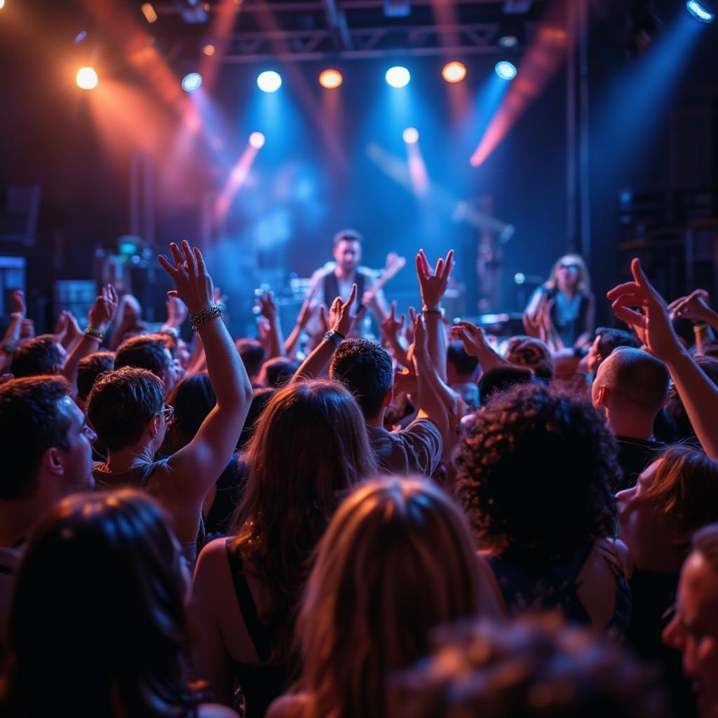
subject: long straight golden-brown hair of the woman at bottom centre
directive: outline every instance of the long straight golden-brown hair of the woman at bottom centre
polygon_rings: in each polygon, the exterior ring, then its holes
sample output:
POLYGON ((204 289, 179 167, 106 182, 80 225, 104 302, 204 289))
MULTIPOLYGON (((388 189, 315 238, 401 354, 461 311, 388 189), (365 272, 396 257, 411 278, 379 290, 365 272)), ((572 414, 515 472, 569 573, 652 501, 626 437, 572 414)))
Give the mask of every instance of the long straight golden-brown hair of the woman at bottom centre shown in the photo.
POLYGON ((431 480, 369 482, 320 543, 297 628, 312 718, 386 716, 385 681, 435 626, 480 611, 467 520, 431 480))

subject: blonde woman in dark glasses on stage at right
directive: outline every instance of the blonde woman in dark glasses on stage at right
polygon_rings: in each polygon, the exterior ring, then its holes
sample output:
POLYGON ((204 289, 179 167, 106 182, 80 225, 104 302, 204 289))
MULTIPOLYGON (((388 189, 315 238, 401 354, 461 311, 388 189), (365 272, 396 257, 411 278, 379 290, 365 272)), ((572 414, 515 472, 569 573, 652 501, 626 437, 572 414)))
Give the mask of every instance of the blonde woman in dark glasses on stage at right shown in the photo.
POLYGON ((524 316, 535 322, 544 310, 564 347, 581 347, 593 340, 595 298, 582 257, 564 254, 554 264, 549 280, 533 292, 524 316))

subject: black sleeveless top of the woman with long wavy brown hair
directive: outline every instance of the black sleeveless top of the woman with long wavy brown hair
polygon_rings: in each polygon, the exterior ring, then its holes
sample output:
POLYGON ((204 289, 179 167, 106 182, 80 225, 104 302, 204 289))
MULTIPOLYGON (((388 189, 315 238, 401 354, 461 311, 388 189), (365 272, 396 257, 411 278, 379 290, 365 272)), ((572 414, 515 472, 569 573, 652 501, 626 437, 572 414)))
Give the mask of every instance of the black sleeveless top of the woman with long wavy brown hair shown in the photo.
MULTIPOLYGON (((230 539, 225 542, 225 551, 244 625, 259 660, 261 663, 267 663, 272 654, 272 642, 259 618, 257 605, 244 573, 241 556, 230 539)), ((289 688, 288 666, 252 665, 239 661, 232 661, 232 666, 234 676, 244 696, 245 718, 263 718, 271 702, 286 693, 289 688)))

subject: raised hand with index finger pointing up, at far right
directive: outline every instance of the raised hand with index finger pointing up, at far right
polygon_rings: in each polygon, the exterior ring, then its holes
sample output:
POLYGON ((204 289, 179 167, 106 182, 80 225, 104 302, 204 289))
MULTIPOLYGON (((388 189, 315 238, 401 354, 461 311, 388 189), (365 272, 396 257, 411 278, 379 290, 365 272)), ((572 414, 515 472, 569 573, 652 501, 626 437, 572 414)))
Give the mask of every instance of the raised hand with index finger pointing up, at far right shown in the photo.
POLYGON ((630 269, 633 281, 615 286, 606 296, 616 317, 635 329, 651 354, 667 362, 680 354, 682 347, 668 317, 666 301, 648 281, 638 259, 630 263, 630 269), (643 314, 630 307, 640 307, 643 314))

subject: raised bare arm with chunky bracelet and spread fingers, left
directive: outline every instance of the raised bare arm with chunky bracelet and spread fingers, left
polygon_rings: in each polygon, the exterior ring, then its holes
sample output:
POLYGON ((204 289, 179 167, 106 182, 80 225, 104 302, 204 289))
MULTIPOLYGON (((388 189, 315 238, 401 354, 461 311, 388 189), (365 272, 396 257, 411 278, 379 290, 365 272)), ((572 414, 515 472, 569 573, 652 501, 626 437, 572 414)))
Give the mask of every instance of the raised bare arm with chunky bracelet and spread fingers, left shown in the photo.
POLYGON ((182 253, 175 243, 169 249, 173 264, 164 256, 158 257, 176 287, 167 294, 180 297, 190 310, 190 322, 202 339, 207 371, 217 396, 217 404, 202 421, 195 438, 167 462, 177 496, 177 514, 194 522, 202 501, 236 447, 252 401, 252 387, 221 309, 212 301, 212 279, 202 253, 197 247, 192 250, 187 241, 182 241, 182 253))

